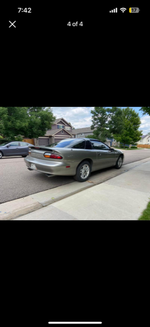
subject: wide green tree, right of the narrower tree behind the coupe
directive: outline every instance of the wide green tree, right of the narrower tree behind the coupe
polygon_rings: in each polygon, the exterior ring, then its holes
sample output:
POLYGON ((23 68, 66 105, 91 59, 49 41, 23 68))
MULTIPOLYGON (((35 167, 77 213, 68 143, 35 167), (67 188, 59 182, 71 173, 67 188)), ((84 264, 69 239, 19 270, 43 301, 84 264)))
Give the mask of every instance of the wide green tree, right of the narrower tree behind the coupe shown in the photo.
POLYGON ((140 118, 137 112, 132 108, 122 109, 124 128, 121 134, 113 134, 113 137, 117 142, 124 144, 135 144, 139 141, 142 135, 142 131, 139 131, 140 118))

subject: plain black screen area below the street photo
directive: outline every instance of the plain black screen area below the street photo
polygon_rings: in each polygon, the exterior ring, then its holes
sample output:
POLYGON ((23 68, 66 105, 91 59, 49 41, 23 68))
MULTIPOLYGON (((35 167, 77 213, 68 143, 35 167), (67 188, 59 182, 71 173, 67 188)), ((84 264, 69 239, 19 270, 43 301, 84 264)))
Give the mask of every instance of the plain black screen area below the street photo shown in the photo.
POLYGON ((1 325, 148 326, 145 224, 2 221, 1 325))

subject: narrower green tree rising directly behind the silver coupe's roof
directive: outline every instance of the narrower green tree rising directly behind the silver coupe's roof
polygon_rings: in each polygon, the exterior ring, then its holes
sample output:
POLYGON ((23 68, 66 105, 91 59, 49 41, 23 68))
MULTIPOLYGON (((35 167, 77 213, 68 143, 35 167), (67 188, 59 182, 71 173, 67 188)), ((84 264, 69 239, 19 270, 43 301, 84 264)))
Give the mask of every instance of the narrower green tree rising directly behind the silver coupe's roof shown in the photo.
POLYGON ((91 110, 92 113, 92 126, 93 131, 92 138, 97 138, 102 142, 106 142, 107 137, 111 137, 111 132, 109 131, 108 126, 108 114, 105 107, 95 107, 94 110, 91 110))

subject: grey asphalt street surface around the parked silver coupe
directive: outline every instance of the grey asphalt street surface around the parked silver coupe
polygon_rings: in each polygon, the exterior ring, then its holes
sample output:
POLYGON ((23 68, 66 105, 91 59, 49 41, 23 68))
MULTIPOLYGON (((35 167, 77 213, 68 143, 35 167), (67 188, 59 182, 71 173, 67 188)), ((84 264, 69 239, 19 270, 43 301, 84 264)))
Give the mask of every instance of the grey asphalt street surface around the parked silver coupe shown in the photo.
MULTIPOLYGON (((150 157, 150 149, 123 150, 123 152, 125 152, 124 165, 150 157)), ((108 169, 111 168, 101 172, 108 169)), ((100 171, 93 172, 91 176, 98 173, 100 171)), ((45 174, 29 171, 22 157, 3 157, 0 160, 0 180, 0 204, 74 182, 72 176, 48 178, 45 174)))

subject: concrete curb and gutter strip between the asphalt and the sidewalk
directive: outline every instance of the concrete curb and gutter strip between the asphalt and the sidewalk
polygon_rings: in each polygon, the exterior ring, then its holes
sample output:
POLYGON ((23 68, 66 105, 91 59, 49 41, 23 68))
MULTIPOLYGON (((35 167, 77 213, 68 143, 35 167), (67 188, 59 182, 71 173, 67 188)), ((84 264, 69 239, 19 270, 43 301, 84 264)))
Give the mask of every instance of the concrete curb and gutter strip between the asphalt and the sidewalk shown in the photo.
POLYGON ((101 173, 92 176, 86 182, 79 183, 75 181, 70 184, 58 186, 51 190, 29 195, 25 198, 2 203, 0 204, 0 220, 13 220, 34 212, 44 206, 65 199, 88 188, 92 188, 93 186, 101 184, 115 176, 124 174, 137 166, 143 165, 147 161, 150 161, 150 158, 123 165, 119 171, 113 168, 108 168, 107 171, 102 171, 101 173))

